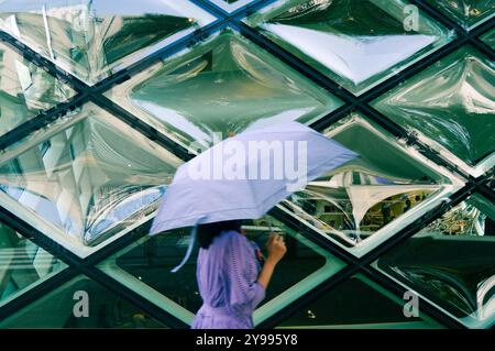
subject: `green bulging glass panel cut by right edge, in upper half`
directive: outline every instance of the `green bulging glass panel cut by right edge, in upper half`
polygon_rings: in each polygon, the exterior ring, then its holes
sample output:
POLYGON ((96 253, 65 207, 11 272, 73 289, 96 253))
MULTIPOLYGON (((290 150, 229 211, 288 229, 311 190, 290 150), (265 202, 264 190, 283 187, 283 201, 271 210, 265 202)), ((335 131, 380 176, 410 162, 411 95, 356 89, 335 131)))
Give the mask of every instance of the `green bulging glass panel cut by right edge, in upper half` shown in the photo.
POLYGON ((387 92, 374 107, 479 176, 495 165, 494 86, 495 64, 462 48, 387 92))

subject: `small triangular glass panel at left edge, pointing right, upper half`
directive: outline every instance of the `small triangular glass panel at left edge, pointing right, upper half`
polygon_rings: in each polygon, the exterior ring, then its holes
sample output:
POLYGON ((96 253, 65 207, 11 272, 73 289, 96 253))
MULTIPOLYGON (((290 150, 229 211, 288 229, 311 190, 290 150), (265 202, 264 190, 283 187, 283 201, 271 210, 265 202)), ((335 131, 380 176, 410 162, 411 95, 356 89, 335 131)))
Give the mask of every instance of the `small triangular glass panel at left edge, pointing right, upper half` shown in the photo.
POLYGON ((73 89, 0 43, 0 136, 72 96, 73 89))

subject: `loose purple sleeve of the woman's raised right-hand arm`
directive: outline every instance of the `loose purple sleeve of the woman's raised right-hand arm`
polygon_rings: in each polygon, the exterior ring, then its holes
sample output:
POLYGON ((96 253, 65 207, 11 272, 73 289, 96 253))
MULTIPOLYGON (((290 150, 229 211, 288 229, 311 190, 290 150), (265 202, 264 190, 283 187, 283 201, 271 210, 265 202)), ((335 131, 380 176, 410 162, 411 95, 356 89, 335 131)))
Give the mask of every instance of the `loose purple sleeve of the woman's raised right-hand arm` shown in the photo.
POLYGON ((257 266, 246 238, 231 235, 226 251, 230 304, 234 309, 254 310, 265 298, 265 288, 257 283, 257 266))

